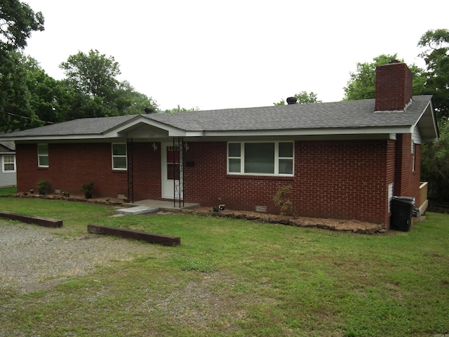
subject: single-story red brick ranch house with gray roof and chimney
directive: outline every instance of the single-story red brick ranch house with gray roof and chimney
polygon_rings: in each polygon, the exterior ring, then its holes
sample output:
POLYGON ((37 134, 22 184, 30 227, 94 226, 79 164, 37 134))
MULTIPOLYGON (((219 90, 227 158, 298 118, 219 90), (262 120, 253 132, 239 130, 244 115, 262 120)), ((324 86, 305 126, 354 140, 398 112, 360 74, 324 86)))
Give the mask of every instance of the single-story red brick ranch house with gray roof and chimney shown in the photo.
MULTIPOLYGON (((393 195, 420 200, 421 144, 438 138, 430 95, 412 95, 403 63, 377 67, 375 99, 76 119, 15 140, 18 191, 131 201, 169 199, 279 213, 293 187, 299 216, 389 226, 393 195)), ((0 140, 1 140, 0 139, 0 140)))

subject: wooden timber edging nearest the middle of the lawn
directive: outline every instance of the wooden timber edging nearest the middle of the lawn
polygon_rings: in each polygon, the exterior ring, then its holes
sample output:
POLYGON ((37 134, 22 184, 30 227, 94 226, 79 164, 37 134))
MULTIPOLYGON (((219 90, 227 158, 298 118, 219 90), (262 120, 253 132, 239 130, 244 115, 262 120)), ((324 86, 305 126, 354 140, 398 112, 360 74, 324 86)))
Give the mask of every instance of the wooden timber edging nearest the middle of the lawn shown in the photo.
POLYGON ((114 237, 125 237, 127 239, 136 239, 149 242, 151 244, 162 244, 163 246, 179 246, 180 237, 169 237, 163 234, 152 234, 139 232, 137 230, 126 230, 124 228, 107 227, 102 225, 87 225, 87 231, 93 234, 112 235, 114 237))

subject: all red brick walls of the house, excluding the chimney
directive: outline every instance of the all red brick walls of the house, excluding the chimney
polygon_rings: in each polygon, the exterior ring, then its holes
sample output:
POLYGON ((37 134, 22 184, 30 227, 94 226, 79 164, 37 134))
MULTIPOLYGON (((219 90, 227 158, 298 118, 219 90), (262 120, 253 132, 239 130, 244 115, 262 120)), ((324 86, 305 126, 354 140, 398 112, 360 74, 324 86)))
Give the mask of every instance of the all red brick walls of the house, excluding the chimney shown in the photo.
MULTIPOLYGON (((290 200, 300 216, 342 218, 389 225, 388 185, 394 195, 417 198, 420 145, 415 147, 412 172, 410 135, 397 140, 339 140, 295 142, 295 177, 227 175, 226 142, 189 142, 185 161, 185 201, 203 206, 226 204, 230 209, 254 210, 267 206, 283 185, 292 185, 290 200), (396 164, 395 162, 396 161, 396 164), (398 173, 402 171, 403 175, 398 173), (221 198, 219 200, 218 198, 221 198)), ((161 198, 161 145, 134 143, 134 197, 161 198)), ((94 197, 128 194, 126 171, 112 170, 110 143, 49 144, 49 167, 37 167, 36 144, 18 144, 18 191, 37 190, 38 180, 71 194, 81 194, 82 183, 95 183, 94 197)))

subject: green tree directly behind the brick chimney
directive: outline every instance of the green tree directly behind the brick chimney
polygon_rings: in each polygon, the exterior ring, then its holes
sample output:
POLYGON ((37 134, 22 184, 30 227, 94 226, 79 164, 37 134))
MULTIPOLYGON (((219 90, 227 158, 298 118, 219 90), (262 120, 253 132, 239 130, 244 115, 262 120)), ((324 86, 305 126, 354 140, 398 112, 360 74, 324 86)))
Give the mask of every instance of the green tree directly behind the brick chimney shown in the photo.
MULTIPOLYGON (((357 63, 356 72, 349 74, 349 81, 344 87, 343 100, 366 100, 375 98, 376 91, 376 67, 379 65, 387 65, 391 60, 398 60, 397 54, 379 55, 373 58, 373 62, 357 63)), ((403 60, 399 60, 403 62, 403 60)), ((416 65, 408 65, 410 72, 413 74, 413 94, 420 95, 425 92, 424 83, 426 77, 424 70, 416 65)))

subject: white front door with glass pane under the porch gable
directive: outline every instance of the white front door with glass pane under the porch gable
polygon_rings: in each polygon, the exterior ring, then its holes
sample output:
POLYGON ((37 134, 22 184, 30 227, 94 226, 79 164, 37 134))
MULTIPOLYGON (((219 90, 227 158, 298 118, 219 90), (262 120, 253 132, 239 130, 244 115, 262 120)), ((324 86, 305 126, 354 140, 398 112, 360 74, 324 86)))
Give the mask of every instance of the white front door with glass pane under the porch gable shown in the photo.
POLYGON ((182 184, 180 185, 180 147, 173 143, 162 143, 162 197, 166 199, 182 199, 182 184))

